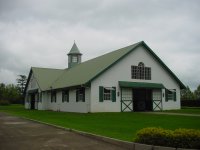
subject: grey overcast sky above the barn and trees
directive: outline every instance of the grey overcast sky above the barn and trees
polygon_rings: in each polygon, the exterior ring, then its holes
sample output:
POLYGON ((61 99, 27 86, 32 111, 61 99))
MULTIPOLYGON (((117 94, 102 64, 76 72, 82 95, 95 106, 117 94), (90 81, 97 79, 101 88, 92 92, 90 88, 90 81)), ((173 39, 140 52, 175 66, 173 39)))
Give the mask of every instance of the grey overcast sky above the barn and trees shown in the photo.
POLYGON ((0 0, 0 82, 31 66, 66 68, 145 41, 191 89, 200 84, 200 0, 0 0))

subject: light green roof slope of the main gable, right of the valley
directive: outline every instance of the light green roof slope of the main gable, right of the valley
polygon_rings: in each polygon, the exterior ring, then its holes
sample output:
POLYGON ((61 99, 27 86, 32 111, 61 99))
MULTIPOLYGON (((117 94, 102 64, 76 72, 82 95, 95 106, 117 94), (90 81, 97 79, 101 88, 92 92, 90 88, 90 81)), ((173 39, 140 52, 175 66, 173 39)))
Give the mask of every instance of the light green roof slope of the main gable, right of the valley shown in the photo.
POLYGON ((67 69, 59 79, 52 84, 53 89, 89 83, 139 44, 140 43, 136 43, 121 48, 67 69))

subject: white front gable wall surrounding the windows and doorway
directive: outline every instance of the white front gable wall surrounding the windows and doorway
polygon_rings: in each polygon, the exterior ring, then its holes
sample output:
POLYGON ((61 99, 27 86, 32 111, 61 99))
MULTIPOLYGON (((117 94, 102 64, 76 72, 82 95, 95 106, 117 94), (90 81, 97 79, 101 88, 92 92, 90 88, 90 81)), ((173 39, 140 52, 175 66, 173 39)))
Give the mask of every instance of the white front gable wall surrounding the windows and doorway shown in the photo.
POLYGON ((142 46, 135 49, 91 83, 91 112, 121 111, 120 96, 116 97, 116 102, 99 102, 99 86, 115 86, 117 87, 116 91, 120 92, 118 81, 162 83, 168 89, 176 89, 177 101, 163 101, 163 109, 180 109, 179 84, 142 46), (139 62, 143 62, 145 66, 151 67, 151 80, 138 80, 131 78, 131 66, 138 65, 139 62))

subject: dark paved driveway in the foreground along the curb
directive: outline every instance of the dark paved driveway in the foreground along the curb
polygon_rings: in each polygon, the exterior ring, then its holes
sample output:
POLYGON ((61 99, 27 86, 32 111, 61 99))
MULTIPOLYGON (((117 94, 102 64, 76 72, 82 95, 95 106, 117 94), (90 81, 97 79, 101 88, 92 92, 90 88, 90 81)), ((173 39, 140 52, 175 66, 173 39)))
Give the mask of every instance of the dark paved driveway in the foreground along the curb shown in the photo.
POLYGON ((0 150, 122 150, 70 131, 0 112, 0 150))

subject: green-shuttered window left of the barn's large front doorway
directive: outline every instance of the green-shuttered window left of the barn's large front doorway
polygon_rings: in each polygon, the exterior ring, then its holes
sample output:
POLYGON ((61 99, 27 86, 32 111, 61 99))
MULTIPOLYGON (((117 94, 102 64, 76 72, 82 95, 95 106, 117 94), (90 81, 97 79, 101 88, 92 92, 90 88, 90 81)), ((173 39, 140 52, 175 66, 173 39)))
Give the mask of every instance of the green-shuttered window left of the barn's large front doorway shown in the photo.
POLYGON ((116 102, 116 87, 99 87, 99 101, 116 102))

